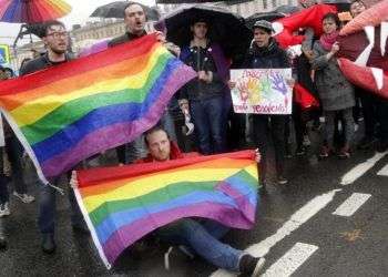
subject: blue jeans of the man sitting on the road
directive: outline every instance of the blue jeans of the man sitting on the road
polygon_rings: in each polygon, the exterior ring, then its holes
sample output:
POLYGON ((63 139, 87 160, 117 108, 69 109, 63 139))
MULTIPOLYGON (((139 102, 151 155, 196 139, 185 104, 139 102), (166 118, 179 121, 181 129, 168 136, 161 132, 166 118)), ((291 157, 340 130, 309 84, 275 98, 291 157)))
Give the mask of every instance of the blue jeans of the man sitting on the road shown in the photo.
POLYGON ((190 247, 214 266, 238 273, 245 253, 218 240, 227 230, 213 220, 183 218, 159 228, 155 235, 164 242, 190 247))

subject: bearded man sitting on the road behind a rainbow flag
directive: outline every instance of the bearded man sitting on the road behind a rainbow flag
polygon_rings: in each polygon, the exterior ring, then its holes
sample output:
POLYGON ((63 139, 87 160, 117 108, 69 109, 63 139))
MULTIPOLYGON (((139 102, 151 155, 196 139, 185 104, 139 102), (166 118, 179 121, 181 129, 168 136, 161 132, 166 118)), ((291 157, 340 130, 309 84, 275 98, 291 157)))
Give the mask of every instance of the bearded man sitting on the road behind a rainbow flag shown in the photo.
MULTIPOLYGON (((170 141, 167 133, 157 126, 145 133, 145 144, 149 155, 137 163, 165 162, 193 155, 182 153, 177 145, 170 141)), ((259 152, 256 151, 256 161, 259 160, 259 152)), ((253 257, 219 242, 227 230, 226 226, 214 220, 182 218, 160 227, 154 235, 163 242, 187 247, 190 252, 214 266, 248 276, 258 276, 265 259, 253 257)))

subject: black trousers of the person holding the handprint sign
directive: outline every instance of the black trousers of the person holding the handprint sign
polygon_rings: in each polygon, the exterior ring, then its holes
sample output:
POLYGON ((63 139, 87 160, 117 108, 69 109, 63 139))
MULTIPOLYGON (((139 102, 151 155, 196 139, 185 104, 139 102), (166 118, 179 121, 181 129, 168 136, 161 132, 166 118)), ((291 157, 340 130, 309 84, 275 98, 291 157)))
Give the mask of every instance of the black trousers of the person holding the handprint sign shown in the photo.
POLYGON ((253 134, 257 147, 262 153, 261 162, 261 182, 265 181, 268 160, 267 153, 269 150, 269 141, 272 140, 275 148, 275 167, 277 175, 284 173, 284 154, 285 154, 285 125, 287 115, 253 115, 253 134))

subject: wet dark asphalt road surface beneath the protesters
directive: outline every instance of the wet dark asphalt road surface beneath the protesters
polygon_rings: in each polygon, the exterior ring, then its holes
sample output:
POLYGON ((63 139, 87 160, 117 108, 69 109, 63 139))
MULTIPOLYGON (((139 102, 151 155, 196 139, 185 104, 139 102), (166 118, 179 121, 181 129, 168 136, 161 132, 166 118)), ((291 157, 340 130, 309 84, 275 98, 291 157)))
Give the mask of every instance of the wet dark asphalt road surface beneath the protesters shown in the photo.
MULTIPOLYGON (((267 186, 256 227, 232 230, 225 242, 242 249, 258 244, 276 234, 308 202, 340 188, 317 214, 270 247, 264 271, 269 274, 270 266, 302 243, 313 245, 315 252, 294 268, 293 276, 388 276, 388 176, 377 175, 388 165, 388 154, 353 184, 343 186, 341 177, 375 153, 357 151, 346 161, 336 157, 317 161, 313 155, 315 151, 316 147, 312 147, 307 156, 288 160, 290 182, 286 186, 267 186), (333 215, 354 193, 370 194, 370 197, 353 216, 333 215)), ((33 185, 31 189, 37 195, 33 185)), ((37 203, 22 204, 11 196, 11 216, 2 222, 9 247, 0 252, 0 276, 210 276, 216 270, 201 258, 190 260, 177 250, 171 254, 171 269, 165 270, 166 246, 129 250, 113 269, 106 270, 91 238, 73 234, 67 197, 58 197, 58 250, 48 256, 40 250, 37 203)))

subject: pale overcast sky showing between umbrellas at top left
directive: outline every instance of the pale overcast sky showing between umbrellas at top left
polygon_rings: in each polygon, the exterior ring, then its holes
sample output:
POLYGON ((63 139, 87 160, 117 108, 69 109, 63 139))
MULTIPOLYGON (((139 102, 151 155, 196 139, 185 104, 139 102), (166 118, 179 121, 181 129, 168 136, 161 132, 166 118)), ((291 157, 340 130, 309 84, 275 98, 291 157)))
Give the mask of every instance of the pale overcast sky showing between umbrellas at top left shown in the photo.
MULTIPOLYGON (((95 10, 95 8, 113 2, 115 0, 65 0, 71 7, 72 11, 62 20, 70 29, 72 24, 84 23, 88 21, 89 16, 95 10)), ((139 2, 153 6, 154 0, 140 0, 139 2)), ((12 44, 18 35, 20 24, 0 23, 0 44, 12 44)), ((25 41, 28 42, 28 41, 25 41)), ((20 43, 19 43, 20 44, 20 43)))

